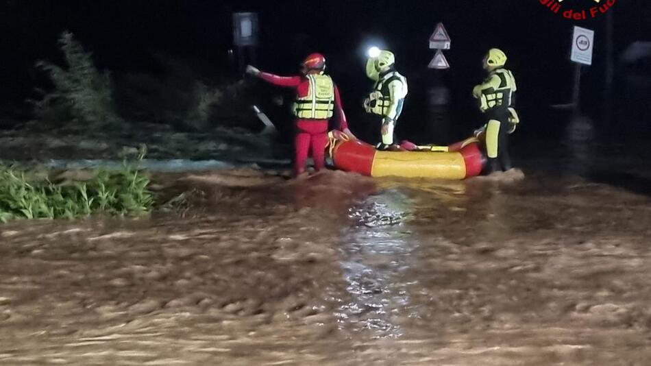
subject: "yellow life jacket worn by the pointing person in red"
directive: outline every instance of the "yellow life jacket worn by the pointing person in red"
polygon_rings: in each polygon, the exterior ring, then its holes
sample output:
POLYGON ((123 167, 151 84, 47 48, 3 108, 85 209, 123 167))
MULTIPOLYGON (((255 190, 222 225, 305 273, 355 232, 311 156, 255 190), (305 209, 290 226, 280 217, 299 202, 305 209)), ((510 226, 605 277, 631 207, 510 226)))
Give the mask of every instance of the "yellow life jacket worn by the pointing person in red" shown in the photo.
POLYGON ((299 119, 330 119, 334 114, 334 82, 328 75, 310 74, 308 94, 296 97, 293 106, 299 119))

